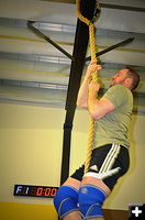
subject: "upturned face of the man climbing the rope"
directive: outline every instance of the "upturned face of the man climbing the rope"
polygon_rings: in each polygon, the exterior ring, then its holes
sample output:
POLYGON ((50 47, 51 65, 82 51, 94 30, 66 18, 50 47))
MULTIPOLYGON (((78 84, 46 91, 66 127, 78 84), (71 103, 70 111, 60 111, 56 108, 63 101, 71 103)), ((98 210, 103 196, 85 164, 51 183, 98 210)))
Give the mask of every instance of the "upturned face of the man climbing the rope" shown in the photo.
POLYGON ((127 78, 127 69, 123 68, 112 76, 112 81, 110 86, 123 85, 126 78, 127 78))

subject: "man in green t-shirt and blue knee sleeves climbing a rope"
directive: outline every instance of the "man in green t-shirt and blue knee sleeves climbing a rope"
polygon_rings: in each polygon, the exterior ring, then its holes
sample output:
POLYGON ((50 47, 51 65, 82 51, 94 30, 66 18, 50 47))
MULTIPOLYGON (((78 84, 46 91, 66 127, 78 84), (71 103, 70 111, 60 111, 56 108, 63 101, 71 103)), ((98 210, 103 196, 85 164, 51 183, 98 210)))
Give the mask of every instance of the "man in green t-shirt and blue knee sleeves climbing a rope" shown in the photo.
POLYGON ((133 110, 133 95, 138 74, 123 68, 113 77, 110 88, 98 98, 100 85, 92 74, 101 69, 93 61, 80 86, 77 106, 88 109, 94 120, 93 150, 88 172, 78 168, 58 189, 55 208, 63 220, 103 220, 101 206, 118 179, 130 165, 127 131, 133 110))

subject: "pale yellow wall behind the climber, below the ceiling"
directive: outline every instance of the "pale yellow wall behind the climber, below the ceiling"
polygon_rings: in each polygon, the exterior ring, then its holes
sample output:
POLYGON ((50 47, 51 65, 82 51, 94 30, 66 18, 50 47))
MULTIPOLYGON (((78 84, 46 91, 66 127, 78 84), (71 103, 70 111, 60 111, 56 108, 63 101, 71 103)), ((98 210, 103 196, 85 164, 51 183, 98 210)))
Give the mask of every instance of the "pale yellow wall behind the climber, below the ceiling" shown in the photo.
MULTIPOLYGON (((58 186, 65 110, 0 103, 0 201, 47 205, 52 199, 13 197, 14 184, 58 186)), ((70 173, 86 156, 88 113, 77 110, 71 139, 70 173)), ((119 180, 104 208, 127 209, 145 202, 144 116, 133 116, 130 139, 131 167, 119 180)))

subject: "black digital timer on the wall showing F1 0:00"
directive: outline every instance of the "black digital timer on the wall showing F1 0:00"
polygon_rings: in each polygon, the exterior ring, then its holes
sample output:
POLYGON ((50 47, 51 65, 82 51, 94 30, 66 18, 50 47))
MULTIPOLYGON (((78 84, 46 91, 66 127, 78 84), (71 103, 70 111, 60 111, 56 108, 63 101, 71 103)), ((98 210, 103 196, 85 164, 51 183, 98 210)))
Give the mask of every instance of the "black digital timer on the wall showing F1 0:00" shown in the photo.
POLYGON ((58 187, 14 185, 14 196, 54 198, 58 187))

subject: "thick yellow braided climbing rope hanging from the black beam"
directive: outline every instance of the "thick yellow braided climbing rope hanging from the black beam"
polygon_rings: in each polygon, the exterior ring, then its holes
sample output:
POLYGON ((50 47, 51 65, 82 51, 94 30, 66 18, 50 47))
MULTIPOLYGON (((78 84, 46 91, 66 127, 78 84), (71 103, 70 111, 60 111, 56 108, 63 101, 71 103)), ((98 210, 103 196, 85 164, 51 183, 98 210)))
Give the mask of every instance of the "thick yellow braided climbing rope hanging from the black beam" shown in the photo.
MULTIPOLYGON (((89 26, 89 41, 90 41, 90 53, 91 53, 91 62, 97 61, 96 57, 96 37, 94 37, 94 20, 90 21, 87 18, 85 18, 81 13, 80 13, 80 1, 81 0, 76 0, 77 3, 77 15, 79 18, 79 20, 83 23, 86 23, 89 26)), ((97 9, 99 10, 99 1, 97 1, 97 9)), ((96 20, 98 19, 98 16, 96 18, 96 20)), ((94 72, 92 74, 92 81, 97 81, 98 77, 97 77, 97 72, 94 72)), ((92 144, 93 144, 93 136, 94 136, 94 121, 93 119, 90 119, 90 124, 89 124, 89 134, 88 134, 88 150, 87 150, 87 158, 85 162, 85 174, 88 172, 89 168, 89 164, 90 164, 90 160, 91 160, 91 153, 92 153, 92 144)))

